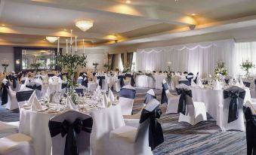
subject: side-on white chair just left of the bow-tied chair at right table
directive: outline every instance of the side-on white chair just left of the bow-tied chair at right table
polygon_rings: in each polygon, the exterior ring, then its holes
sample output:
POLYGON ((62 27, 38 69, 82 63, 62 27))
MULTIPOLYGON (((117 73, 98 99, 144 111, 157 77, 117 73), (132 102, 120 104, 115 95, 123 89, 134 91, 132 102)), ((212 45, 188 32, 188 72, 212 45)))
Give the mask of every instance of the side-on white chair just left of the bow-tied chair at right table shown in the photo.
POLYGON ((177 113, 177 105, 179 103, 178 96, 174 96, 170 93, 168 89, 168 84, 165 80, 162 81, 162 97, 161 103, 167 103, 167 108, 165 113, 177 113))

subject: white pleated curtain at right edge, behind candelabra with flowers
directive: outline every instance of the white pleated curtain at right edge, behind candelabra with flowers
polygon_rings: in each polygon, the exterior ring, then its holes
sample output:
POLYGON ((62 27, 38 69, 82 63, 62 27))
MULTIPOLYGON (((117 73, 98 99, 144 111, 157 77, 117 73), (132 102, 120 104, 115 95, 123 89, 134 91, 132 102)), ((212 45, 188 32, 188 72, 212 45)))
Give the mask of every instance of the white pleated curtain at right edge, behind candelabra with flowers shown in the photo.
MULTIPOLYGON (((234 61, 235 63, 235 72, 236 76, 245 74, 240 67, 242 62, 248 60, 252 62, 254 65, 256 64, 256 42, 243 42, 235 44, 235 55, 234 61)), ((249 70, 251 74, 256 74, 256 68, 252 68, 249 70)))

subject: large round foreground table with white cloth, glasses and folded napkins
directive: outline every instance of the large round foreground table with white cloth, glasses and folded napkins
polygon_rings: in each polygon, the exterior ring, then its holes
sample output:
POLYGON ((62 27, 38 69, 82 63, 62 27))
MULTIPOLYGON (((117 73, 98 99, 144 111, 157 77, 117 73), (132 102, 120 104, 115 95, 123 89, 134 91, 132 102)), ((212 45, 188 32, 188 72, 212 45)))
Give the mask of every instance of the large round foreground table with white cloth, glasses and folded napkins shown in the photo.
MULTIPOLYGON (((100 102, 97 102, 94 99, 83 99, 83 101, 82 104, 78 105, 79 111, 91 115, 94 122, 101 122, 102 120, 97 120, 99 118, 94 117, 94 114, 92 113, 96 112, 97 114, 101 114, 109 111, 111 114, 104 117, 104 123, 114 124, 112 126, 113 129, 125 125, 119 105, 113 105, 110 108, 102 108, 100 102)), ((32 137, 36 155, 51 155, 52 143, 48 122, 51 117, 65 111, 63 110, 64 105, 52 104, 50 107, 51 108, 47 108, 44 106, 45 110, 43 111, 32 111, 29 106, 20 108, 20 133, 32 137)), ((97 150, 97 147, 102 147, 101 145, 103 145, 103 143, 100 143, 100 141, 97 140, 103 135, 102 132, 104 132, 104 130, 96 129, 95 126, 92 127, 91 143, 94 144, 92 145, 92 147, 94 147, 92 149, 97 150), (97 144, 97 146, 95 144, 97 144)))

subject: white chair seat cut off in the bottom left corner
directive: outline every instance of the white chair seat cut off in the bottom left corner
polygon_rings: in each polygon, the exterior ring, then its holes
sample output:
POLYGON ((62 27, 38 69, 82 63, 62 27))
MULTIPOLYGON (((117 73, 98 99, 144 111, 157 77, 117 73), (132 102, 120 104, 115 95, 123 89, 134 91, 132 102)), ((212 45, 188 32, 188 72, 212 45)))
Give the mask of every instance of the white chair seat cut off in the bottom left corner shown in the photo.
POLYGON ((0 138, 0 154, 3 155, 34 155, 32 138, 28 135, 15 133, 0 138))

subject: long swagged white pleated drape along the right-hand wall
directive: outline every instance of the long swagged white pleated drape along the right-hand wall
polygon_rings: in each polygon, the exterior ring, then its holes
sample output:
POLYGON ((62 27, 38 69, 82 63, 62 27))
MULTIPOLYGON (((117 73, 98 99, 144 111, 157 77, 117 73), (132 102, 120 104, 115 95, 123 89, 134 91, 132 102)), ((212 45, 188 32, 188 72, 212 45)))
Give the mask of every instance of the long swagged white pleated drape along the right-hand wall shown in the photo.
POLYGON ((173 71, 189 71, 202 77, 214 73, 217 61, 224 61, 230 75, 234 75, 234 41, 212 41, 179 46, 137 50, 137 70, 165 71, 171 62, 173 71))

